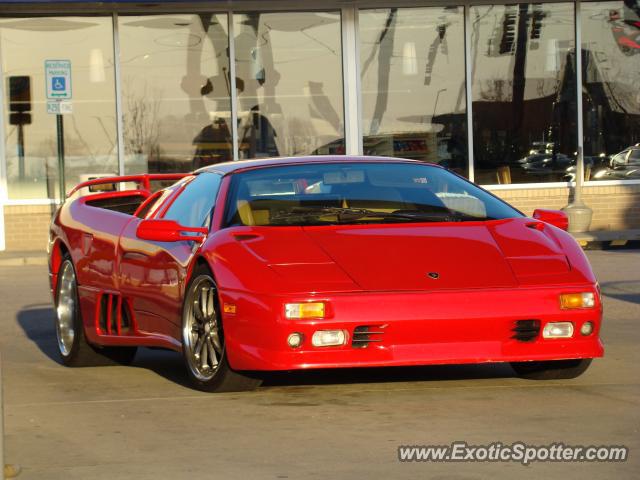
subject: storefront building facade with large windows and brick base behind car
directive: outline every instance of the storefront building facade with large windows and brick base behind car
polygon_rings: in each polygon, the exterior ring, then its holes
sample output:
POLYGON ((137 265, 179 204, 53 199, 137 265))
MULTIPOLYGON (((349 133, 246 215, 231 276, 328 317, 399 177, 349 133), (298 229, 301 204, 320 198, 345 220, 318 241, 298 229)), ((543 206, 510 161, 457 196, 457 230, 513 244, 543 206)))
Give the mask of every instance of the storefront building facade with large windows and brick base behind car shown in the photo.
POLYGON ((366 154, 640 228, 637 0, 0 0, 0 249, 103 175, 366 154), (576 45, 578 48, 576 48, 576 45))

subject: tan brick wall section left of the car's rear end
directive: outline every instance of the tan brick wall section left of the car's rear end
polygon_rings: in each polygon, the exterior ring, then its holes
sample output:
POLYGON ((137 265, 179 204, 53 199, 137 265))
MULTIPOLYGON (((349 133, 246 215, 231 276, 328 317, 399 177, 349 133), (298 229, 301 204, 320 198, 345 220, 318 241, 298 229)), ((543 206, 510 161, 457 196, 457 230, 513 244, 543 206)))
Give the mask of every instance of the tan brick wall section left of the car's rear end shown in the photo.
POLYGON ((55 208, 55 205, 6 205, 4 230, 7 251, 45 251, 49 222, 55 208))

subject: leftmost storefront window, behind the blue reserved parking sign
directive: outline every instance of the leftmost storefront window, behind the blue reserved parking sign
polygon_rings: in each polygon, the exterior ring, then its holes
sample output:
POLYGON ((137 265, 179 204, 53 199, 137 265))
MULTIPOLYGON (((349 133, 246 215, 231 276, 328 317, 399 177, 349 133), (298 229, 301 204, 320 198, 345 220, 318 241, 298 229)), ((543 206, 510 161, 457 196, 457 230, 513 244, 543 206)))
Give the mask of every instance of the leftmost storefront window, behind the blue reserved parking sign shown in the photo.
POLYGON ((112 32, 111 17, 0 19, 10 199, 59 198, 60 163, 67 191, 118 173, 112 32), (45 74, 45 62, 56 61, 70 67, 69 75, 53 67, 45 74), (47 89, 71 98, 56 105, 47 89), (64 112, 60 121, 50 113, 56 108, 64 112))

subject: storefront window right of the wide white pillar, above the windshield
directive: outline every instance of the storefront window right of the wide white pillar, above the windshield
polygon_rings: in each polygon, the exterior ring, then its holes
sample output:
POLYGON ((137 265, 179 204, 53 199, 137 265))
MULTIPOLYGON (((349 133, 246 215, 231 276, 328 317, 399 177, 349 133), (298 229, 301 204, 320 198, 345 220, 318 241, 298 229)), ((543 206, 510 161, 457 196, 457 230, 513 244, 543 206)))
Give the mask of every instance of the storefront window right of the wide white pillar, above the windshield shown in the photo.
POLYGON ((363 147, 468 175, 463 7, 360 10, 363 147))

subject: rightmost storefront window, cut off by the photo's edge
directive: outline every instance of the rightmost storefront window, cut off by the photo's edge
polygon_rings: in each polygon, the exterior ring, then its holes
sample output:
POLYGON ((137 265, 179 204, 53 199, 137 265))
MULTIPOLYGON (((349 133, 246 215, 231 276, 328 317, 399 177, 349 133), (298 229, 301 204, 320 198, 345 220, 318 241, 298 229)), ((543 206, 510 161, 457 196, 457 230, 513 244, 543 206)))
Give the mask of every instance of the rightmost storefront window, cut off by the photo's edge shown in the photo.
POLYGON ((640 179, 640 6, 582 4, 585 175, 640 179))

